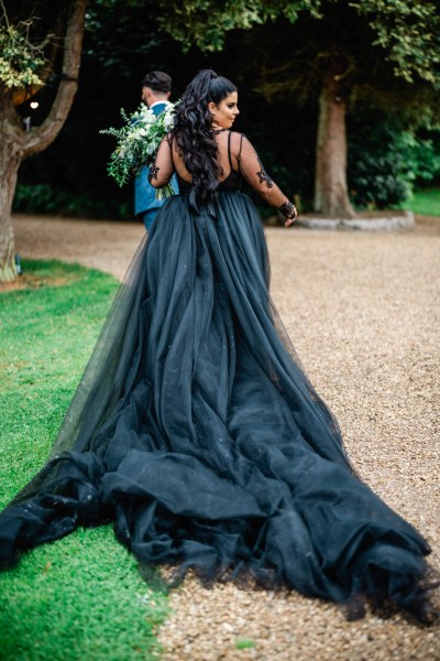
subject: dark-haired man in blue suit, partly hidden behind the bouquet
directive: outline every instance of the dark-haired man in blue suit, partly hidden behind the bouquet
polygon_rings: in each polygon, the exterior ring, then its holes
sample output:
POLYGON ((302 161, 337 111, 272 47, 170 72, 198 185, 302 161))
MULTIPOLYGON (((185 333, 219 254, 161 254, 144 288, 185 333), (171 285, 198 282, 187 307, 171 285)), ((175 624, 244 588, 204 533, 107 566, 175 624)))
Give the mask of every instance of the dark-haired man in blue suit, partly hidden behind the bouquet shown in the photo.
MULTIPOLYGON (((164 72, 151 72, 142 80, 142 100, 153 110, 154 115, 161 115, 167 106, 172 93, 172 78, 164 72)), ((148 169, 142 167, 134 180, 134 213, 141 217, 145 229, 148 230, 154 223, 158 208, 164 199, 156 199, 156 191, 147 180, 148 169)), ((177 184, 172 180, 173 187, 177 192, 177 184)))

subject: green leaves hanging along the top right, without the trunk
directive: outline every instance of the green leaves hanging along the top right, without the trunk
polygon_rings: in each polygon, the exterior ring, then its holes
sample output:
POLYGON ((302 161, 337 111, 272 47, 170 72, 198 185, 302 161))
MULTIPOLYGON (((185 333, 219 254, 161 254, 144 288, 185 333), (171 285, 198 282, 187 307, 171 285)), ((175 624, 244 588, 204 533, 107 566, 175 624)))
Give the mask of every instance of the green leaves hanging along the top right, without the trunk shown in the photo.
MULTIPOLYGON (((382 50, 396 76, 408 83, 417 77, 440 87, 440 12, 437 2, 419 0, 183 0, 175 3, 157 0, 161 14, 157 22, 182 42, 185 50, 193 45, 202 51, 221 50, 226 34, 234 29, 250 30, 284 19, 292 24, 304 17, 315 21, 331 20, 331 14, 342 15, 353 10, 372 31, 373 47, 382 50)), ((334 22, 332 23, 334 28, 334 22)), ((353 24, 353 29, 356 25, 353 24)), ((350 53, 355 47, 358 34, 341 42, 339 31, 328 34, 339 50, 350 53)), ((302 35, 307 41, 307 33, 302 35)), ((300 45, 300 44, 299 44, 300 45)), ((295 43, 286 44, 295 52, 295 43)), ((324 50, 323 50, 324 53, 324 50)))

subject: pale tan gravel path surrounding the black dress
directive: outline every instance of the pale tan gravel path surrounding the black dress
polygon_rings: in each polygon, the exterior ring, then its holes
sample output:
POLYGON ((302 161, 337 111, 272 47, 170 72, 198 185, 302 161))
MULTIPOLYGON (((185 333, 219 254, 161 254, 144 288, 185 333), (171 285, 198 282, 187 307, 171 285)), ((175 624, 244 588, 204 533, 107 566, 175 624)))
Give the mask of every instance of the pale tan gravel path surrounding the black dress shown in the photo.
MULTIPOLYGON (((121 278, 143 227, 16 216, 24 257, 79 261, 121 278)), ((433 548, 440 570, 440 219, 393 234, 267 230, 272 295, 354 466, 433 548)), ((440 590, 436 602, 440 607, 440 590)), ((440 627, 400 616, 345 621, 295 593, 191 577, 172 596, 163 659, 440 660, 440 627)))

